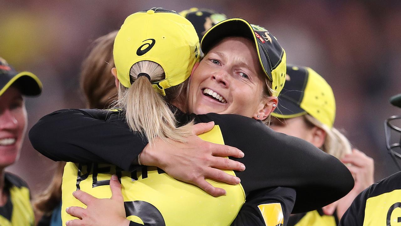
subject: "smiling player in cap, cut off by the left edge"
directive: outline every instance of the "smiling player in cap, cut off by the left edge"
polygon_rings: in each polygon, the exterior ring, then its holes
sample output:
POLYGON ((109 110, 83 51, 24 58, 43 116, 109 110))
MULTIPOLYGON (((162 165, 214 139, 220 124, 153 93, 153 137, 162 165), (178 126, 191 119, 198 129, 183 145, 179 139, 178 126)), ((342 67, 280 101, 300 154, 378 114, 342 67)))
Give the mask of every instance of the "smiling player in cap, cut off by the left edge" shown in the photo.
POLYGON ((34 225, 25 181, 4 169, 18 160, 27 115, 24 96, 41 94, 42 83, 31 72, 16 72, 0 58, 0 225, 34 225))

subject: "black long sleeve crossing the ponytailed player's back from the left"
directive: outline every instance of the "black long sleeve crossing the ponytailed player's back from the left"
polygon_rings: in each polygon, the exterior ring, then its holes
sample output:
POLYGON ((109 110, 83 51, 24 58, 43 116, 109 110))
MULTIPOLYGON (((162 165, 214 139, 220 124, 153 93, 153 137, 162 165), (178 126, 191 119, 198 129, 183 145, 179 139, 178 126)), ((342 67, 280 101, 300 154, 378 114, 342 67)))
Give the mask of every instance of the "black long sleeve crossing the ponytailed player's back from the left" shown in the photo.
POLYGON ((140 134, 130 131, 124 120, 109 120, 111 117, 118 118, 119 112, 55 111, 30 129, 29 140, 38 152, 55 161, 107 162, 133 171, 132 162, 148 142, 140 134), (116 154, 117 150, 119 154, 116 154))

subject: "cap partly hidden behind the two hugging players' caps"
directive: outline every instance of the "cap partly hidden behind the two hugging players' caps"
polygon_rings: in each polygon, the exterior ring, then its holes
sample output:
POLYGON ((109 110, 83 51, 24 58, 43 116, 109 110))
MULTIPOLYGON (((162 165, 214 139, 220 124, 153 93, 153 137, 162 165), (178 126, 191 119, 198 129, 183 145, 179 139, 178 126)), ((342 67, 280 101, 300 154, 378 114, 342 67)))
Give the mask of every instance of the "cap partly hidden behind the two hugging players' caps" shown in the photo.
POLYGON ((211 9, 206 8, 190 8, 180 12, 180 15, 184 16, 194 25, 196 33, 198 34, 199 41, 205 35, 206 31, 211 27, 227 19, 227 16, 222 13, 218 13, 211 9))

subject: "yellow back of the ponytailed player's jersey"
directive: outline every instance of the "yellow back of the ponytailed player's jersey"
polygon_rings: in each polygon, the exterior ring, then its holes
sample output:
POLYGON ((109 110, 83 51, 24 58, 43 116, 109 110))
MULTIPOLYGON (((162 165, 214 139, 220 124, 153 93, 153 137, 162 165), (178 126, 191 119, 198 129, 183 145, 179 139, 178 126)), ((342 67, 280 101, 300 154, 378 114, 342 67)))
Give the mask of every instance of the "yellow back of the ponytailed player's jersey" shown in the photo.
MULTIPOLYGON (((203 140, 224 144, 220 127, 216 125, 211 131, 199 136, 203 140)), ((117 151, 117 150, 115 150, 117 151)), ((110 166, 107 164, 99 167, 110 166)), ((62 185, 62 210, 69 206, 85 207, 72 196, 73 191, 77 189, 77 165, 67 162, 64 168, 62 185)), ((91 169, 90 169, 91 170, 91 169)), ((93 168, 92 168, 93 170, 93 168)), ((87 172, 86 167, 82 169, 81 175, 87 172)), ((225 171, 230 175, 235 175, 233 171, 225 171)), ((111 197, 109 185, 92 187, 93 171, 87 179, 79 183, 80 189, 98 198, 111 197)), ((115 166, 107 173, 99 173, 97 181, 109 180, 111 174, 115 173, 115 166)), ((213 197, 200 188, 184 182, 180 182, 170 177, 166 173, 159 173, 154 166, 148 166, 147 177, 142 178, 142 171, 136 173, 138 180, 132 181, 130 173, 122 172, 122 193, 126 203, 135 201, 136 203, 150 203, 160 211, 162 219, 166 226, 196 225, 196 226, 228 226, 237 216, 241 206, 245 202, 245 192, 241 185, 227 185, 212 180, 209 181, 215 187, 221 187, 227 191, 227 194, 220 197, 213 197)), ((147 210, 148 204, 141 206, 147 210)), ((151 214, 150 210, 147 212, 151 214)), ((130 214, 128 214, 130 215, 130 214)), ((146 213, 145 213, 146 215, 146 213)), ((143 224, 147 216, 129 216, 128 219, 143 224)), ((152 216, 148 216, 152 217, 152 216)), ((63 225, 67 220, 75 219, 65 211, 62 211, 63 225)), ((163 225, 158 222, 156 225, 163 225)))

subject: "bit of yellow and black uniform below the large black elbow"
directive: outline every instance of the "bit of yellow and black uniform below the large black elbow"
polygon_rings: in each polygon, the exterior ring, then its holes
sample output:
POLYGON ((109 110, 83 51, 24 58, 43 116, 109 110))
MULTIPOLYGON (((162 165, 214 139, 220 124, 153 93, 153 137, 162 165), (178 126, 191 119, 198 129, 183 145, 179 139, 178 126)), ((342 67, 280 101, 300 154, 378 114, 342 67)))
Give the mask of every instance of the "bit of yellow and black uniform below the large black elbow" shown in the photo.
POLYGON ((287 226, 337 226, 338 217, 336 212, 333 215, 326 215, 323 210, 294 214, 290 216, 287 226))

